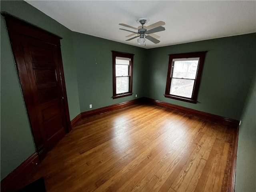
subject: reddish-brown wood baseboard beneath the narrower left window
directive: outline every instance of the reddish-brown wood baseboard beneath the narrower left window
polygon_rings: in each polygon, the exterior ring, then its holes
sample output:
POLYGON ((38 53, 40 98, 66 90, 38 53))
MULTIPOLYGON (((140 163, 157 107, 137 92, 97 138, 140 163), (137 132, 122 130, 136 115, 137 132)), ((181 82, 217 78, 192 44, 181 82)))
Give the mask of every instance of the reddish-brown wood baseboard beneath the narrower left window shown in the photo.
POLYGON ((90 110, 90 111, 86 111, 86 112, 82 112, 81 113, 81 118, 85 119, 85 118, 89 118, 92 116, 96 116, 108 111, 112 111, 112 110, 116 110, 116 109, 120 109, 126 106, 130 106, 133 104, 137 104, 140 102, 143 102, 144 98, 138 98, 138 99, 134 99, 134 100, 130 100, 130 101, 126 101, 126 102, 122 102, 122 103, 118 103, 118 104, 114 104, 114 105, 110 105, 110 106, 106 106, 106 107, 102 107, 102 108, 98 108, 98 109, 94 109, 94 110, 90 110))

